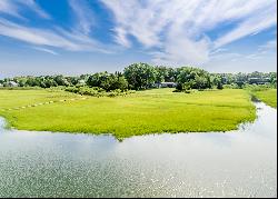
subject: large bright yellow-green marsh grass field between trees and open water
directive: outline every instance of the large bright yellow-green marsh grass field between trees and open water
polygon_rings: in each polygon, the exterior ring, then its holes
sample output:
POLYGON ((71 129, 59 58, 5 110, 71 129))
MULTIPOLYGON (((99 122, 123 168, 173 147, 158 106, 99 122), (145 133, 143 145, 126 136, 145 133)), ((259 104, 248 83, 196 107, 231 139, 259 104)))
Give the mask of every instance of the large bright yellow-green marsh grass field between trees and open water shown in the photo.
POLYGON ((126 97, 88 97, 20 110, 2 108, 80 98, 64 91, 0 90, 0 115, 22 130, 112 133, 117 138, 161 132, 205 132, 237 129, 256 118, 245 90, 177 93, 172 89, 138 91, 126 97))

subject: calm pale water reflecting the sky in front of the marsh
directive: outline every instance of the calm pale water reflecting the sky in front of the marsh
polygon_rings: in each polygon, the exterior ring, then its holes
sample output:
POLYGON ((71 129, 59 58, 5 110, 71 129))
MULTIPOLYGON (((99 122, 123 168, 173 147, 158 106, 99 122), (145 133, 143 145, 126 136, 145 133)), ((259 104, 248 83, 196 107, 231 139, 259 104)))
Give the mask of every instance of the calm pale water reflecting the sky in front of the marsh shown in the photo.
POLYGON ((111 136, 4 130, 0 197, 277 197, 277 110, 231 132, 111 136))

